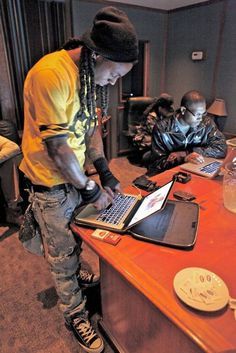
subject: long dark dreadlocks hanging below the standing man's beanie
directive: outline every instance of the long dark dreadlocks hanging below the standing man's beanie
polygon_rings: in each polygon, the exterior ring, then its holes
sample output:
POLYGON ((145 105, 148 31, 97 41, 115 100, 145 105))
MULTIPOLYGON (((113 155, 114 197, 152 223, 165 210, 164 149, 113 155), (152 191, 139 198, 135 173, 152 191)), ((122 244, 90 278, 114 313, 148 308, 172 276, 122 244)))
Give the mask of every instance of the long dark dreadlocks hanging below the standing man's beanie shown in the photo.
POLYGON ((108 87, 95 84, 94 70, 96 63, 96 54, 86 47, 80 39, 71 38, 62 49, 71 50, 82 46, 79 62, 80 91, 79 98, 81 110, 79 116, 87 121, 86 128, 89 129, 91 122, 94 122, 94 128, 97 124, 97 100, 100 100, 102 117, 107 116, 108 110, 108 87), (89 118, 86 116, 89 113, 89 118))

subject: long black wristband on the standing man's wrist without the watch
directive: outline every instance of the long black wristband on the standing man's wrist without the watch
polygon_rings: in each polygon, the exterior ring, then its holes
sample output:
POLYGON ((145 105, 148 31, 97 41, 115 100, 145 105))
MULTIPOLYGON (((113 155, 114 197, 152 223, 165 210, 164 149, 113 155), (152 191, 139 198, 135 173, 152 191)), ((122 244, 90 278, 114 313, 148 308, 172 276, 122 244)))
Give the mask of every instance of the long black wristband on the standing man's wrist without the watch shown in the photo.
POLYGON ((106 159, 104 157, 98 158, 93 164, 100 176, 102 186, 108 186, 111 190, 114 190, 116 185, 119 184, 119 180, 110 171, 106 159))

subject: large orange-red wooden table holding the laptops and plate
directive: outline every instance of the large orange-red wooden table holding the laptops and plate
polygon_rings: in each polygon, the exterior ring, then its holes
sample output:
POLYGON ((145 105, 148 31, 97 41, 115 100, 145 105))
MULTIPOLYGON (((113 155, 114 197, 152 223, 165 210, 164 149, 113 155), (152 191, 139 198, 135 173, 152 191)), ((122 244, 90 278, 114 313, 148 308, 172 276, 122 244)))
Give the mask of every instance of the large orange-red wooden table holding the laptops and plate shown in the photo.
MULTIPOLYGON (((159 174, 162 185, 178 168, 159 174)), ((200 204, 193 250, 177 250, 122 236, 116 246, 91 238, 91 230, 72 225, 99 255, 103 326, 120 352, 236 352, 236 320, 226 306, 202 312, 181 302, 173 290, 175 274, 186 267, 215 272, 236 297, 236 214, 222 200, 222 179, 192 175, 173 191, 196 195, 200 204)), ((133 187, 128 192, 137 193, 133 187)), ((170 198, 172 198, 172 194, 170 198)), ((183 215, 184 217, 184 215, 183 215)))

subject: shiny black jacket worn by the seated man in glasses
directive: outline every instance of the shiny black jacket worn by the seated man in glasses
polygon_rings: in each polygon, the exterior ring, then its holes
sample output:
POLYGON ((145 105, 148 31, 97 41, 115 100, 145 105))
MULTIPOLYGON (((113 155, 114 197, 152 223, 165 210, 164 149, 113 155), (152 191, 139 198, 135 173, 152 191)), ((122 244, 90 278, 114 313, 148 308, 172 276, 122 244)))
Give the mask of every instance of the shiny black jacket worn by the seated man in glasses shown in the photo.
POLYGON ((184 157, 180 162, 167 162, 169 154, 176 151, 224 158, 227 145, 224 135, 208 116, 203 118, 197 129, 190 128, 185 135, 180 130, 177 116, 173 115, 159 121, 153 128, 152 154, 147 174, 155 175, 184 163, 184 157))

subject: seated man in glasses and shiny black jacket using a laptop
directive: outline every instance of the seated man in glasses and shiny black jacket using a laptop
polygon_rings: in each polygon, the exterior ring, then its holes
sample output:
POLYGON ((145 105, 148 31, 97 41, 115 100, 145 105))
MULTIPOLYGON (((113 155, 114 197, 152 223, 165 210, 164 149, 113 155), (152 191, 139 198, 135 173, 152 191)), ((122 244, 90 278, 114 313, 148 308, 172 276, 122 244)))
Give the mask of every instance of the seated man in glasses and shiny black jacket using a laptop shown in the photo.
POLYGON ((204 156, 224 158, 224 135, 206 116, 206 101, 198 91, 185 93, 180 109, 156 123, 147 175, 155 175, 184 162, 202 163, 204 156))

